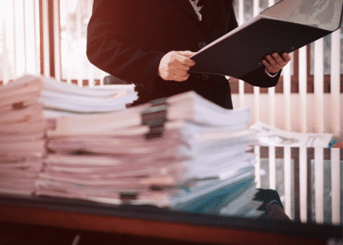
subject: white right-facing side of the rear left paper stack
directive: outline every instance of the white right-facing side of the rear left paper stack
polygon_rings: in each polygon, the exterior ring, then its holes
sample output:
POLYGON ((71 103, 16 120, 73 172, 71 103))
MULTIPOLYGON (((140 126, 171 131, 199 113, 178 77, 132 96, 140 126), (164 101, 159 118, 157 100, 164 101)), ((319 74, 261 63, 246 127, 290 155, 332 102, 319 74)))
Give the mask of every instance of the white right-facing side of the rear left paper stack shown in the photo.
POLYGON ((44 104, 46 117, 120 111, 138 99, 134 84, 80 87, 53 78, 42 79, 44 86, 39 101, 44 104))

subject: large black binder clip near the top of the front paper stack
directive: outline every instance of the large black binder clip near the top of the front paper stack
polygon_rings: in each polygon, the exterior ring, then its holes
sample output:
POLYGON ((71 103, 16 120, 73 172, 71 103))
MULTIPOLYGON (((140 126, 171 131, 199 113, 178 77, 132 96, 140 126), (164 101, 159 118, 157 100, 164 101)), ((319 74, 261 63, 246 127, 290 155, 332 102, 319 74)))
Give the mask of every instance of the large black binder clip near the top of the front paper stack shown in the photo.
POLYGON ((168 104, 166 98, 154 99, 150 104, 151 107, 141 111, 141 125, 149 126, 145 139, 156 139, 163 135, 168 104))

